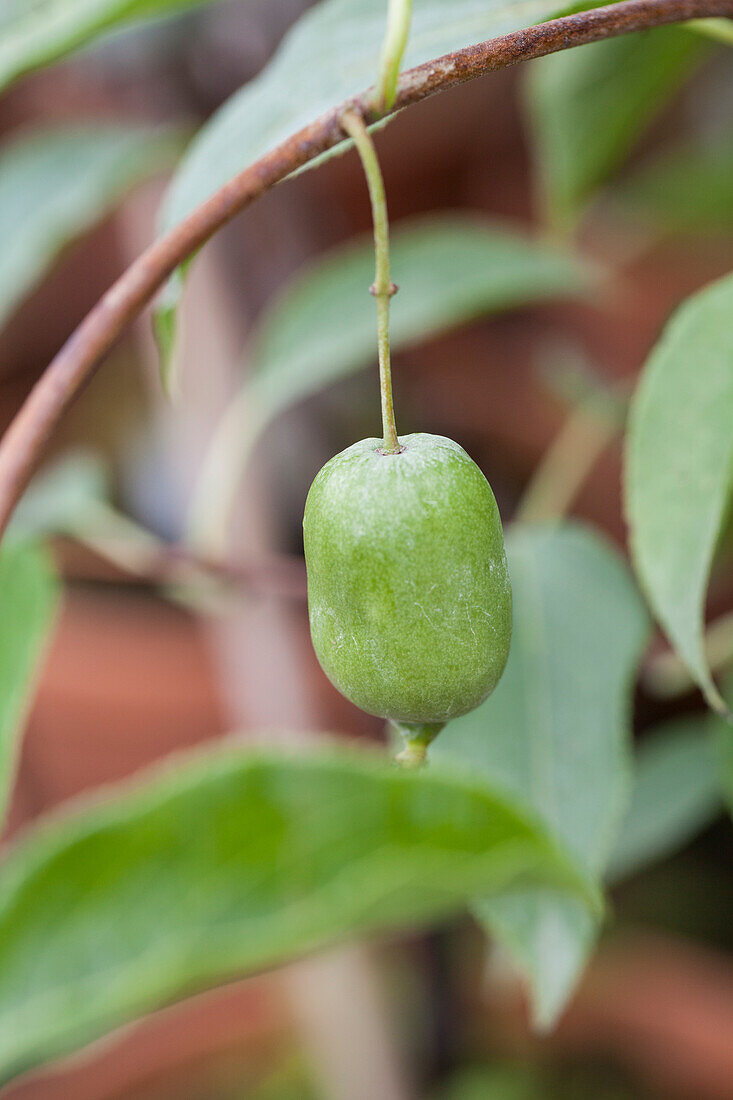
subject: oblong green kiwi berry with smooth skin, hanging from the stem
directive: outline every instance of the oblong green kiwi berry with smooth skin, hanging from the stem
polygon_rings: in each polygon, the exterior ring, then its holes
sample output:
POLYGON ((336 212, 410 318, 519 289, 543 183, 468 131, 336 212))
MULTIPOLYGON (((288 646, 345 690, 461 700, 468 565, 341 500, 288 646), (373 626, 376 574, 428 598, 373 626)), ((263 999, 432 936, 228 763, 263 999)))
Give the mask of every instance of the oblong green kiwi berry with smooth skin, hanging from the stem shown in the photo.
POLYGON ((303 520, 313 644, 369 714, 472 711, 504 671, 512 588, 489 482, 444 436, 363 439, 316 476, 303 520))

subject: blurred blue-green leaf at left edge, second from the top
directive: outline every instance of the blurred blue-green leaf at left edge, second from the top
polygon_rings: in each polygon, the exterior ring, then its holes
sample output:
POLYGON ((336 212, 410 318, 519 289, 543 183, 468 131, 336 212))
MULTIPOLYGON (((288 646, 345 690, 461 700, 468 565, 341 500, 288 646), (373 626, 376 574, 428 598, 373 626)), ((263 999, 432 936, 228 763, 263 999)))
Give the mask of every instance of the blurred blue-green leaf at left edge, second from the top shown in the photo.
POLYGON ((95 124, 25 131, 3 145, 0 326, 70 241, 169 167, 180 141, 160 127, 95 124))

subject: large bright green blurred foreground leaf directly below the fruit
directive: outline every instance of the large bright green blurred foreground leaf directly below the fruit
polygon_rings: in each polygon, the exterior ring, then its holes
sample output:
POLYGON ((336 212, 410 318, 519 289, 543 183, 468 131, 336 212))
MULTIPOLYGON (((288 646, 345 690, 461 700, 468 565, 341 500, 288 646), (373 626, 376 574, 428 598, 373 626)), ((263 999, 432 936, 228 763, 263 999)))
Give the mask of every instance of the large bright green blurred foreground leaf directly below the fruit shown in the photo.
POLYGON ((336 746, 199 755, 8 857, 0 1081, 217 981, 522 882, 595 901, 486 785, 336 746))

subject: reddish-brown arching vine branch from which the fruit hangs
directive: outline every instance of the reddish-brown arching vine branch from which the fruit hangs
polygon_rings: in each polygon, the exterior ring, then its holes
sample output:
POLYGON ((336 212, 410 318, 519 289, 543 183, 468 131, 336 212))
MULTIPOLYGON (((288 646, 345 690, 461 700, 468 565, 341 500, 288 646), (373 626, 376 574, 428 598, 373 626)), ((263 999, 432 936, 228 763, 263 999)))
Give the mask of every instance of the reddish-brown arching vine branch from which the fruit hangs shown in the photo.
MULTIPOLYGON (((523 61, 692 19, 733 16, 733 0, 623 0, 467 46, 404 73, 390 113, 523 61)), ((244 168, 152 244, 107 292, 37 381, 0 441, 0 536, 62 414, 100 359, 187 256, 256 198, 343 140, 349 110, 372 120, 372 91, 339 103, 244 168)))

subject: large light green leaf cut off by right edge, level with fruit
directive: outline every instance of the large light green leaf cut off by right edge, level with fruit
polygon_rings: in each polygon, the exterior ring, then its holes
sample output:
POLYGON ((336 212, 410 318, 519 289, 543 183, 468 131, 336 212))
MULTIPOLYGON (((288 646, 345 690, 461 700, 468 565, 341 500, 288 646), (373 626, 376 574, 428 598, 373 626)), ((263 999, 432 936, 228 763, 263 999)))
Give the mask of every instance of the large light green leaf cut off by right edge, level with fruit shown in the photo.
POLYGON ((711 706, 725 704, 703 645, 705 590, 733 484, 733 275, 688 298, 631 407, 625 499, 653 610, 711 706))

